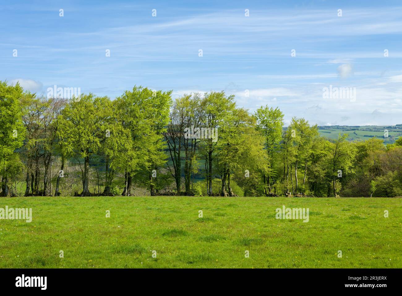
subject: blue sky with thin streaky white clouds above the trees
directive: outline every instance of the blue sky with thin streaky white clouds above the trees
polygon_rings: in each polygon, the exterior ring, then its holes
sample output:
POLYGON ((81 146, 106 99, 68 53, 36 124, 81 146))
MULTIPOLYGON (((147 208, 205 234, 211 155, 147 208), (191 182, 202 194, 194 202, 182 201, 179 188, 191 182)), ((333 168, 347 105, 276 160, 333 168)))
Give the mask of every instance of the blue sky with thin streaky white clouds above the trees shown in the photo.
POLYGON ((285 123, 402 123, 400 1, 81 2, 2 2, 0 80, 111 98, 135 84, 225 90, 250 111, 279 107, 285 123), (355 100, 324 99, 330 85, 355 100))

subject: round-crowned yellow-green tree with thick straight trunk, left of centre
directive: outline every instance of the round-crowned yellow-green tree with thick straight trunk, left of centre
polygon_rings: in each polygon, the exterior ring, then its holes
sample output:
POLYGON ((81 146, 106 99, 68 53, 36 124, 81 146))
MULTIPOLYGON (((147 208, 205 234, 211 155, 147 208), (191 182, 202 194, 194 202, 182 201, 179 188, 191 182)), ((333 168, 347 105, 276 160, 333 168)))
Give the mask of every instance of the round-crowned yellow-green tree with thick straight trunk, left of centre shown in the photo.
POLYGON ((81 196, 89 191, 89 164, 108 136, 111 125, 111 101, 93 94, 71 99, 59 116, 57 134, 65 139, 68 153, 84 158, 81 196))

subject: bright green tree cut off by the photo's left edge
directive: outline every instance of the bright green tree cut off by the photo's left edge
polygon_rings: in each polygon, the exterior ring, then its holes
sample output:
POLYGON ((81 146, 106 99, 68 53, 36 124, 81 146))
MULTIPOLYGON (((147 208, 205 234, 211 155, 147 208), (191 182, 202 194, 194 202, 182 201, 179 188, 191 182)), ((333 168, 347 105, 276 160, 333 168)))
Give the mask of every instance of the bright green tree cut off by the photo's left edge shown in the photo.
POLYGON ((22 121, 21 98, 23 88, 8 85, 0 81, 0 175, 2 176, 1 196, 8 195, 8 181, 15 173, 15 164, 19 162, 15 153, 17 148, 23 146, 25 128, 22 121))

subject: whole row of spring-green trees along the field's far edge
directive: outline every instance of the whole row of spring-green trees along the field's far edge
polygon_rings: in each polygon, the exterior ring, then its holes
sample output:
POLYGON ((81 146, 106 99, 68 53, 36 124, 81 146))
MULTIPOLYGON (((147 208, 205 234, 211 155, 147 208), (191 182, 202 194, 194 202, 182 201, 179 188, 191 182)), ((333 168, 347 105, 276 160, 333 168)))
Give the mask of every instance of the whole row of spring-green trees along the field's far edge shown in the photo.
POLYGON ((402 195, 402 138, 328 140, 223 91, 171 93, 62 99, 0 82, 0 195, 402 195))

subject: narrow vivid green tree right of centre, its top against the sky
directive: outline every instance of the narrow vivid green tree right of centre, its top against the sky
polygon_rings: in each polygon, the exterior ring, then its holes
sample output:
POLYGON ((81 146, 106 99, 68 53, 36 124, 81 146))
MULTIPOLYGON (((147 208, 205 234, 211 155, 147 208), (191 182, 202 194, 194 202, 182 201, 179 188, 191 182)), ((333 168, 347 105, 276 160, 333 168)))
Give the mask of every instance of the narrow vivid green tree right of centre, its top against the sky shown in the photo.
POLYGON ((254 113, 257 120, 257 129, 265 138, 265 150, 268 155, 270 171, 263 175, 264 183, 267 181, 268 195, 271 195, 271 185, 275 184, 275 171, 273 170, 274 154, 279 148, 282 138, 283 113, 279 108, 261 106, 254 113))

